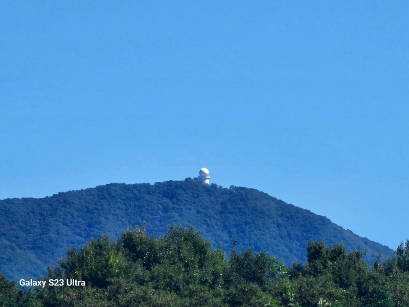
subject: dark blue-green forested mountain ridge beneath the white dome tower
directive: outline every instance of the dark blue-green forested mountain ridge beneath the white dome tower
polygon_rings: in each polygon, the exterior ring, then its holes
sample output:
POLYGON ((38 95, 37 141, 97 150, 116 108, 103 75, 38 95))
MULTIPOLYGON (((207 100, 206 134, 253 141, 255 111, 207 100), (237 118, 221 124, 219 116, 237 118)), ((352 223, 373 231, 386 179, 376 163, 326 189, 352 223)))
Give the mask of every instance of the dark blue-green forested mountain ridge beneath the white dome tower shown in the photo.
POLYGON ((116 237, 146 222, 148 233, 193 226, 227 253, 252 247, 291 262, 306 261, 308 241, 367 250, 372 263, 393 251, 333 224, 328 218, 244 187, 203 185, 187 178, 154 185, 108 184, 42 199, 0 201, 0 272, 11 280, 36 278, 49 263, 106 232, 116 237))

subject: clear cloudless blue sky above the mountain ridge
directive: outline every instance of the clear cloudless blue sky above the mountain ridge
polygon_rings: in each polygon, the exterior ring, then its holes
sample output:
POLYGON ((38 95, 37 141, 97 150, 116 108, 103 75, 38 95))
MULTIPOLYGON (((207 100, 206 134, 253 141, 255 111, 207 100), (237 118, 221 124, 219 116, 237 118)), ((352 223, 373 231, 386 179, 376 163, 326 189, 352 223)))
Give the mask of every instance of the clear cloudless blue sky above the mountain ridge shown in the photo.
POLYGON ((0 199, 210 170, 409 237, 407 1, 0 2, 0 199))

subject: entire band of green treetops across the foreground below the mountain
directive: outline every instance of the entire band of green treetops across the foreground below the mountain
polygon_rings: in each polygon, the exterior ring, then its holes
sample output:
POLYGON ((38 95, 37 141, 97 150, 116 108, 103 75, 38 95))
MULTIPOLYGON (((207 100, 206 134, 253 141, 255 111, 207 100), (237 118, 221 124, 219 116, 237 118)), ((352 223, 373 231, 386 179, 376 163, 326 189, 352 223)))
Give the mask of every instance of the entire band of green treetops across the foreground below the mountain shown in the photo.
POLYGON ((358 250, 310 242, 291 267, 234 244, 229 259, 192 227, 161 237, 145 227, 107 234, 49 267, 41 286, 24 290, 0 274, 2 306, 368 306, 409 304, 409 242, 374 265, 358 250), (73 280, 78 282, 75 285, 73 280), (44 287, 42 287, 44 284, 44 287), (71 284, 71 286, 69 286, 71 284))

